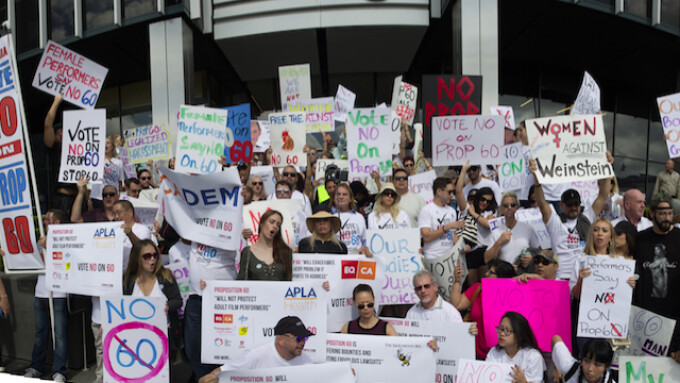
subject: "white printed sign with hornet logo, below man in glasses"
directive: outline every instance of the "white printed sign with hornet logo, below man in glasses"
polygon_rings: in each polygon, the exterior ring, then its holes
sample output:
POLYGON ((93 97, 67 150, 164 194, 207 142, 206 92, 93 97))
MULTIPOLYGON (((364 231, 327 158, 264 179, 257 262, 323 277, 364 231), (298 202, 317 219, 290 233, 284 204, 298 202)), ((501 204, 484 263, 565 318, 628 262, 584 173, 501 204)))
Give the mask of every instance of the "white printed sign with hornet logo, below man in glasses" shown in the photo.
POLYGON ((328 334, 326 360, 350 362, 357 383, 432 383, 436 354, 421 338, 328 334))

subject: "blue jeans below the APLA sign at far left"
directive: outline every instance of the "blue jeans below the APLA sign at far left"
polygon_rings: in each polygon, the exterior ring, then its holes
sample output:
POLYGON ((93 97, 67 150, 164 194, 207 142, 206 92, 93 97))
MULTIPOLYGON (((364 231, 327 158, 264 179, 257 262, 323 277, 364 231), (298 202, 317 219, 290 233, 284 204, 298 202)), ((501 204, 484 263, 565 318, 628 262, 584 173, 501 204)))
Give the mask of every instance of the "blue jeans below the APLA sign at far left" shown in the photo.
MULTIPOLYGON (((54 360, 52 361, 52 374, 58 372, 64 376, 68 373, 66 369, 67 310, 66 298, 54 298, 54 338, 56 344, 54 360)), ((33 344, 31 367, 42 371, 45 367, 47 346, 49 344, 48 339, 50 336, 50 305, 47 298, 35 298, 33 316, 35 317, 35 343, 33 344)))

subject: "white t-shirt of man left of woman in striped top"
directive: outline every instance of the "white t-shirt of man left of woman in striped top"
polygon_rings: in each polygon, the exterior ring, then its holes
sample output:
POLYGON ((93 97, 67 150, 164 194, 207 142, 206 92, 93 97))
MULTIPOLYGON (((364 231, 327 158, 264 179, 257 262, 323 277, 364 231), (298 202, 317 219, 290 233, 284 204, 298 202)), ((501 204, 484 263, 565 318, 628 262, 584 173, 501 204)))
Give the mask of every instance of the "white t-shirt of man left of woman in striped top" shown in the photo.
MULTIPOLYGON (((456 222, 458 214, 451 206, 440 207, 434 202, 428 203, 420 211, 418 215, 418 227, 427 227, 430 230, 440 230, 443 226, 456 222)), ((439 238, 426 242, 423 246, 423 253, 427 259, 435 259, 445 255, 454 245, 453 243, 454 230, 449 230, 446 235, 441 235, 439 238)))

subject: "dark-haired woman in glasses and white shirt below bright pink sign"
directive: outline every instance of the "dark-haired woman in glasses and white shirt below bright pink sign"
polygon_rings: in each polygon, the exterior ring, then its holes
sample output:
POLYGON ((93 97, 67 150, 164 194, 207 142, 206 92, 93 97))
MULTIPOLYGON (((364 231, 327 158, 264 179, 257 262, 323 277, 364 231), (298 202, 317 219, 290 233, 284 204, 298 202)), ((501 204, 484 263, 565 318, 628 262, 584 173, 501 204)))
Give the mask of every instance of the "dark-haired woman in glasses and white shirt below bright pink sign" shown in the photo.
POLYGON ((513 382, 543 382, 545 362, 529 321, 522 314, 508 311, 496 327, 496 333, 498 344, 489 351, 486 361, 512 364, 513 382))

